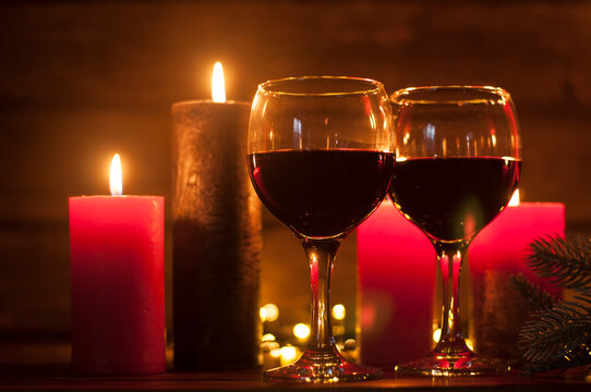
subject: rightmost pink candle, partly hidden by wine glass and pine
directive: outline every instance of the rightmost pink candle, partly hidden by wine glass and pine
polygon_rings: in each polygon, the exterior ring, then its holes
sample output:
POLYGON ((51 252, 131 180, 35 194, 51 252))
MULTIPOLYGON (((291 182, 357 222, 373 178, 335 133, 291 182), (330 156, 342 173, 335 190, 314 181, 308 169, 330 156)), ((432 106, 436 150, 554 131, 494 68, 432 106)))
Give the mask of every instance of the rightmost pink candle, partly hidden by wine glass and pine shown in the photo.
POLYGON ((532 309, 520 298, 510 277, 522 273, 530 281, 560 297, 526 266, 528 244, 539 236, 562 234, 565 206, 559 203, 519 203, 519 194, 500 215, 477 235, 468 249, 473 310, 470 335, 475 351, 506 360, 521 357, 516 348, 519 329, 532 309))

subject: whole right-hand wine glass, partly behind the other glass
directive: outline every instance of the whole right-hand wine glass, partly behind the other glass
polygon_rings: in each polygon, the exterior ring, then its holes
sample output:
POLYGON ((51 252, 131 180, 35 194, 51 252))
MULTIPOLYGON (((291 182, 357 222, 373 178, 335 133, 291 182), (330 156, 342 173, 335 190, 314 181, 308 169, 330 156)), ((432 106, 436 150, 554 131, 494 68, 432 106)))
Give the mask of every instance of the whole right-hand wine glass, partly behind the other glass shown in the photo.
POLYGON ((503 371, 468 348, 459 317, 459 277, 472 238, 508 204, 521 170, 511 98, 495 87, 406 88, 391 96, 400 138, 389 196, 437 253, 442 334, 426 358, 400 370, 427 376, 503 371))

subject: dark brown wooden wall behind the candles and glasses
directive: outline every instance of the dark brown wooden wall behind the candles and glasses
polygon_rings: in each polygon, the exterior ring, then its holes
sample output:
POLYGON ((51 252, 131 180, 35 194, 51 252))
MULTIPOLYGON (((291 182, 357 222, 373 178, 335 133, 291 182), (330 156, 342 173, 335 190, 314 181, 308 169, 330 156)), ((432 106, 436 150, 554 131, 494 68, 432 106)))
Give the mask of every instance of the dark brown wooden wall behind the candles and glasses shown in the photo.
MULTIPOLYGON (((389 91, 505 87, 523 198, 563 201, 569 228, 590 231, 589 1, 14 1, 0 4, 0 331, 68 332, 68 196, 108 193, 119 151, 124 192, 169 203, 170 105, 208 97, 216 60, 240 100, 262 81, 311 74, 389 91)), ((269 216, 263 280, 264 302, 306 321, 303 253, 269 216)), ((354 309, 354 287, 351 238, 335 303, 354 309)))

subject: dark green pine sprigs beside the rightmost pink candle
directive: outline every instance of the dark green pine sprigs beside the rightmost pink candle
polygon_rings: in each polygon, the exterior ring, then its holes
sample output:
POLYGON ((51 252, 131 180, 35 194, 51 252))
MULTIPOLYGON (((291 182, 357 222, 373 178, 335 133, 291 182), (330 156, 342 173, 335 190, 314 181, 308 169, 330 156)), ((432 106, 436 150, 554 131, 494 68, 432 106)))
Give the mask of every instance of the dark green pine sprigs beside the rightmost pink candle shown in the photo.
POLYGON ((558 302, 523 275, 512 283, 535 311, 521 328, 518 345, 528 364, 523 371, 565 370, 591 365, 591 241, 557 234, 530 244, 526 262, 541 278, 576 292, 558 302))

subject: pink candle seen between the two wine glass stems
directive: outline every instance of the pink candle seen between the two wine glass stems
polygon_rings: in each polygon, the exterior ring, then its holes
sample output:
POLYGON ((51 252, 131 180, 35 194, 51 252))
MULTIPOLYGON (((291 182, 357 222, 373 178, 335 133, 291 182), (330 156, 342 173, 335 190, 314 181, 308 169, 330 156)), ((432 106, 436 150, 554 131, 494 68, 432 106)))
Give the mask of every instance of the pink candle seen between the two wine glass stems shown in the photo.
POLYGON ((393 366, 424 356, 433 345, 433 245, 389 199, 357 235, 361 362, 393 366))

